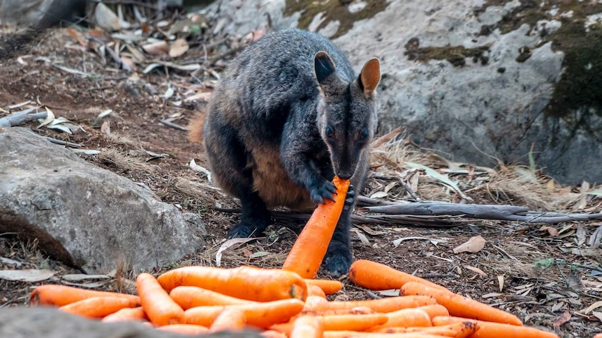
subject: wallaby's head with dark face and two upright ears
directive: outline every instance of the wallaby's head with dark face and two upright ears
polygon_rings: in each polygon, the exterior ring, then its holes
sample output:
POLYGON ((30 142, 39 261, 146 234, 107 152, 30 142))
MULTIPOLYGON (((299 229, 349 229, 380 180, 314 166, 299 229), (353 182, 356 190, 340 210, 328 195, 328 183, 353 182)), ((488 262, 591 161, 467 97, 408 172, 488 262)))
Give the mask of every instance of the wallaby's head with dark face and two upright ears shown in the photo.
POLYGON ((314 58, 321 93, 317 124, 328 145, 335 174, 349 179, 355 174, 362 151, 376 128, 376 86, 381 81, 379 59, 370 59, 357 79, 346 82, 325 52, 314 58))

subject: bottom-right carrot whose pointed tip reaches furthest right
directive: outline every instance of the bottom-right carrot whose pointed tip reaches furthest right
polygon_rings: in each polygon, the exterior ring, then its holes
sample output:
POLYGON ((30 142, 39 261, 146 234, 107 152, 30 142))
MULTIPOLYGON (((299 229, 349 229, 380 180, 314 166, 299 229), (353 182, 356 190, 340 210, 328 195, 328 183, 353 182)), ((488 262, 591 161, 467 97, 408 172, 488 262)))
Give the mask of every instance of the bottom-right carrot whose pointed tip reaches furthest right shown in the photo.
MULTIPOLYGON (((468 318, 455 316, 437 316, 432 319, 433 325, 448 325, 450 323, 470 321, 468 318)), ((471 338, 494 338, 494 337, 521 337, 521 338, 558 338, 552 332, 527 328, 526 326, 494 323, 490 321, 474 321, 478 323, 479 329, 471 335, 471 338)))

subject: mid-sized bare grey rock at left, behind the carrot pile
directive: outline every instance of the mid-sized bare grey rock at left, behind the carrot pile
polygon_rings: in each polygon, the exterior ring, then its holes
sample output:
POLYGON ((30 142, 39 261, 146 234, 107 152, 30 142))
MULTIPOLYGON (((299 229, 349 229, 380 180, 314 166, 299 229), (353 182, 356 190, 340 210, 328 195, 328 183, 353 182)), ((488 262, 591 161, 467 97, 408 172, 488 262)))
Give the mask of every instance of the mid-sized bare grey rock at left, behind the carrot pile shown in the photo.
POLYGON ((28 128, 0 128, 0 233, 37 238, 54 259, 91 273, 139 271, 204 245, 198 217, 89 164, 28 128))

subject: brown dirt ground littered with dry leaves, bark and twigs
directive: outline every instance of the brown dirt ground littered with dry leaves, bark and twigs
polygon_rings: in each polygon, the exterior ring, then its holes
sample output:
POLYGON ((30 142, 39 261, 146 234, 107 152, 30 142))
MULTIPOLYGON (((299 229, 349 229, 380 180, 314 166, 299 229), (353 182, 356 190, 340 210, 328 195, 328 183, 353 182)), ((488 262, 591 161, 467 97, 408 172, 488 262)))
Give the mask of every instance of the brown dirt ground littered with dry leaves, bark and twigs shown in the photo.
MULTIPOLYGON (((26 124, 41 135, 101 151, 96 155, 81 156, 135 182, 145 183, 163 201, 177 204, 182 210, 198 213, 203 218, 209 233, 205 250, 164 268, 214 265, 216 251, 226 238, 228 227, 237 220, 235 213, 215 208, 238 208, 237 201, 203 187, 203 184, 210 184, 205 174, 189 167, 193 158, 198 165, 207 167, 202 146, 187 141, 186 132, 160 122, 170 119, 172 123, 186 126, 195 114, 203 112, 206 97, 198 95, 198 100, 189 101, 185 98, 194 93, 210 93, 214 80, 210 72, 193 76, 190 72, 161 68, 161 71, 144 74, 141 72, 143 66, 135 73, 125 72, 116 68, 110 59, 101 58, 78 45, 65 29, 53 30, 25 52, 27 54, 20 58, 0 61, 0 107, 5 109, 0 110, 0 117, 8 114, 8 106, 31 100, 49 107, 54 116, 68 118, 80 125, 85 132, 80 130, 68 135, 59 130, 36 129, 38 122, 26 124), (86 74, 69 72, 57 65, 86 74), (170 88, 175 89, 175 96, 161 97, 170 88), (177 101, 181 102, 175 105, 177 101), (107 109, 112 109, 112 113, 98 118, 98 114, 107 109), (158 157, 147 152, 166 155, 158 157)), ((226 63, 227 60, 221 65, 215 63, 213 69, 219 72, 226 63)), ((407 142, 397 144, 411 147, 407 142)), ((388 170, 387 175, 401 172, 396 171, 395 166, 403 167, 400 158, 404 156, 406 160, 414 156, 414 162, 422 160, 425 165, 432 164, 432 158, 420 155, 418 150, 409 152, 399 146, 390 146, 374 153, 373 174, 385 176, 384 170, 388 170), (383 169, 387 166, 389 169, 383 169)), ((444 169, 451 166, 439 162, 434 168, 445 172, 444 169)), ((601 199, 596 195, 580 194, 583 187, 559 187, 552 183, 550 188, 548 183, 548 191, 545 182, 522 184, 516 176, 508 174, 510 167, 481 171, 479 175, 474 174, 473 167, 463 168, 467 168, 467 172, 451 171, 448 176, 460 182, 473 203, 514 204, 528 206, 531 210, 601 212, 601 199), (482 182, 476 182, 479 179, 482 182)), ((387 196, 381 198, 409 199, 403 187, 391 185, 392 182, 394 180, 387 178, 372 178, 363 193, 374 197, 375 192, 388 190, 387 196)), ((422 199, 460 201, 453 190, 425 174, 408 176, 407 182, 422 199)), ((457 220, 459 222, 454 226, 442 227, 417 227, 407 222, 357 224, 356 230, 352 231, 355 258, 370 259, 415 273, 452 291, 516 314, 526 325, 555 331, 561 337, 592 337, 594 333, 602 332, 602 313, 599 312, 602 303, 597 303, 602 300, 601 251, 590 248, 585 240, 602 222, 564 222, 548 224, 549 228, 542 229, 542 224, 527 222, 457 220), (453 248, 477 235, 486 240, 483 249, 476 253, 453 252, 453 248), (396 246, 393 241, 399 238, 403 240, 396 246), (588 309, 590 306, 592 308, 588 309)), ((298 229, 291 224, 299 225, 299 222, 278 220, 270 226, 265 238, 227 249, 223 252, 222 266, 280 266, 295 240, 291 228, 298 229), (285 224, 288 226, 283 226, 285 224)), ((0 261, 1 269, 49 268, 57 271, 55 278, 79 273, 49 259, 36 248, 35 241, 0 237, 0 256, 13 260, 0 261)), ((328 277, 322 271, 320 276, 328 277)), ((131 272, 117 272, 112 282, 97 289, 129 290, 131 277, 131 272)), ((344 289, 334 298, 378 297, 354 286, 346 276, 341 280, 344 289)), ((0 279, 0 307, 27 306, 31 288, 43 283, 0 279)))

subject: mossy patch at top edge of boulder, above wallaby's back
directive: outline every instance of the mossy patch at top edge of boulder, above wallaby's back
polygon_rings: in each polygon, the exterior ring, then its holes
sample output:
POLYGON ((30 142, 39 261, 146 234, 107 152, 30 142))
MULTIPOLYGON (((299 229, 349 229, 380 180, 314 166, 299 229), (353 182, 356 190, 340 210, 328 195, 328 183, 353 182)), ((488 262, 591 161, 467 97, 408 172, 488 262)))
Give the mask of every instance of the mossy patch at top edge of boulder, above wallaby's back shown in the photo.
POLYGON ((308 29, 316 15, 322 14, 323 22, 318 25, 318 30, 328 26, 330 22, 338 21, 337 32, 330 38, 338 38, 353 27, 353 23, 374 17, 387 8, 387 0, 367 0, 366 6, 355 13, 348 10, 350 1, 343 0, 286 0, 284 15, 291 16, 300 12, 298 27, 308 29))

